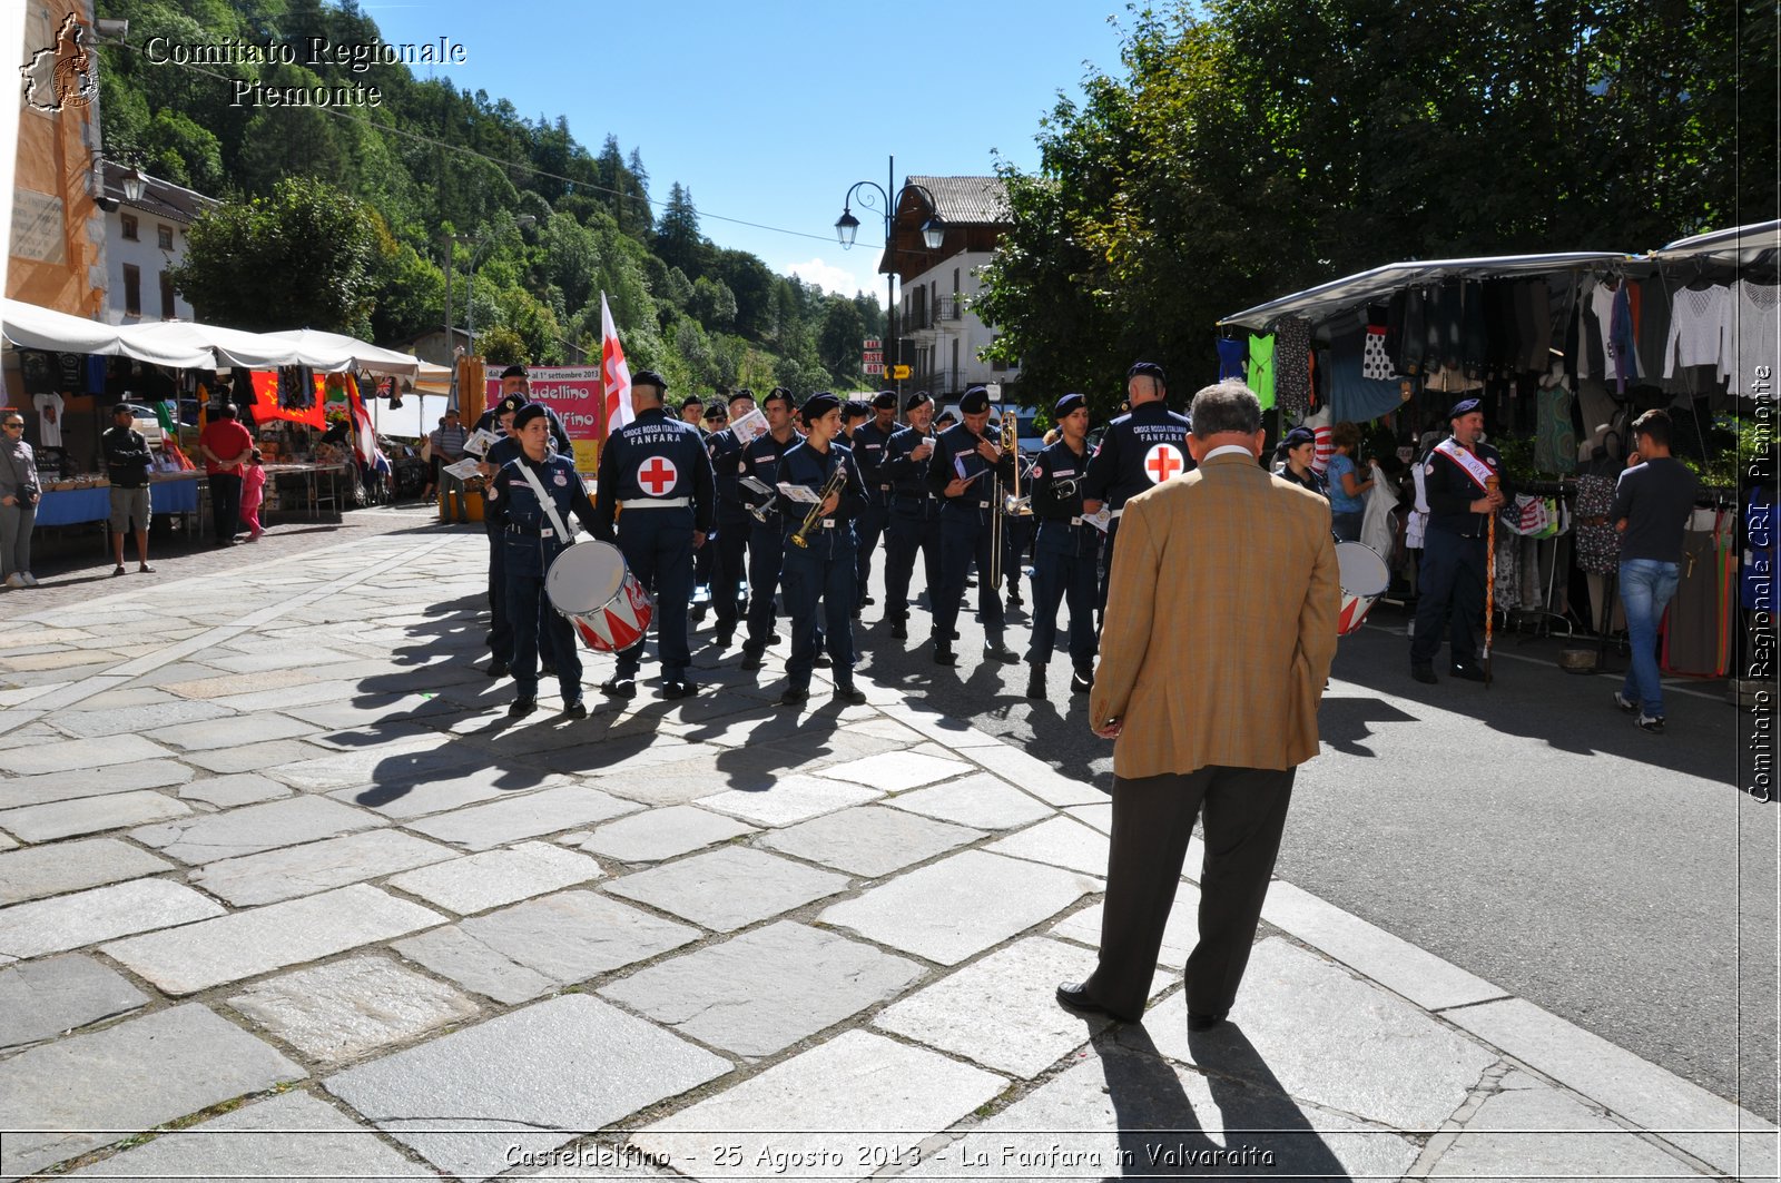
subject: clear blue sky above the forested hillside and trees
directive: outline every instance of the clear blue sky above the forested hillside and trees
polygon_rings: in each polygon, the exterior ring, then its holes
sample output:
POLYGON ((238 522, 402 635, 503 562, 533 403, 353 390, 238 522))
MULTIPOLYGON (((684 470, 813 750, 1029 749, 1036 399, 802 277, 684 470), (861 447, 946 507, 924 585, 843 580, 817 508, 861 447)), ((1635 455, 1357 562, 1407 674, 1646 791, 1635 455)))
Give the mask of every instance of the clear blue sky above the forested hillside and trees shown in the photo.
POLYGON ((720 246, 880 301, 882 216, 855 207, 858 244, 835 242, 848 187, 883 185, 890 155, 899 185, 988 175, 992 150, 1037 167, 1040 118, 1058 91, 1081 94, 1088 64, 1118 69, 1108 18, 1126 18, 1122 0, 362 7, 385 41, 461 43, 467 62, 436 71, 456 86, 508 98, 529 119, 568 116, 590 151, 607 132, 641 150, 650 196, 661 201, 675 180, 691 189, 720 246))

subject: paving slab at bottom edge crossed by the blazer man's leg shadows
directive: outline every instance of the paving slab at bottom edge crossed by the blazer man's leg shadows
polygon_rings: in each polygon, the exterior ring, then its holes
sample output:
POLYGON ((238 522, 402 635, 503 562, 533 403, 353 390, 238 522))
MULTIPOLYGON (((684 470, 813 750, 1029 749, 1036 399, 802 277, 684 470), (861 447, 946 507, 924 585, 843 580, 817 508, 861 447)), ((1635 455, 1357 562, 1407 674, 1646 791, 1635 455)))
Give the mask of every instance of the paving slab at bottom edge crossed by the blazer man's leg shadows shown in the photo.
POLYGON ((924 1165, 935 1178, 1396 1179, 1409 1138, 1279 1092, 1101 1048, 924 1165), (944 1158, 940 1158, 944 1154, 944 1158))

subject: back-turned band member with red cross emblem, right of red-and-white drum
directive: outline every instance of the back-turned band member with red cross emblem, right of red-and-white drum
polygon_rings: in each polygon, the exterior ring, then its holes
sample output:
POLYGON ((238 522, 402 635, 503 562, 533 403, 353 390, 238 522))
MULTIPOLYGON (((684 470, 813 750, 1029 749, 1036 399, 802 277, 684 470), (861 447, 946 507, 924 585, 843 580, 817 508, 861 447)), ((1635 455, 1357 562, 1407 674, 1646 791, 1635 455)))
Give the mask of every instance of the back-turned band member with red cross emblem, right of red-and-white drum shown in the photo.
MULTIPOLYGON (((663 410, 666 392, 668 383, 654 371, 630 378, 630 408, 638 417, 614 431, 600 451, 593 536, 616 538, 630 574, 655 593, 663 697, 686 698, 698 691, 686 675, 693 661, 686 634, 693 552, 711 534, 718 497, 705 442, 698 428, 663 410), (618 515, 620 506, 623 515, 618 515)), ((641 663, 641 643, 618 654, 618 670, 600 682, 600 691, 614 698, 636 697, 641 663)))

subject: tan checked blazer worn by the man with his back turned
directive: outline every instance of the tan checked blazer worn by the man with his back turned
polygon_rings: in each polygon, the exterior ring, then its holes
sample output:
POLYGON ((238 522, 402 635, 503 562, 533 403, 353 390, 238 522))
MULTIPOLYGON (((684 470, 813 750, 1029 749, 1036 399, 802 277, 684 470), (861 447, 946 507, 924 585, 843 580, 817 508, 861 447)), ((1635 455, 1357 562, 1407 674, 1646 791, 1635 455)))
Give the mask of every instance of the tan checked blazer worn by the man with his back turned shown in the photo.
POLYGON ((1318 754, 1341 592, 1329 502, 1227 453, 1126 502, 1090 720, 1122 779, 1318 754))

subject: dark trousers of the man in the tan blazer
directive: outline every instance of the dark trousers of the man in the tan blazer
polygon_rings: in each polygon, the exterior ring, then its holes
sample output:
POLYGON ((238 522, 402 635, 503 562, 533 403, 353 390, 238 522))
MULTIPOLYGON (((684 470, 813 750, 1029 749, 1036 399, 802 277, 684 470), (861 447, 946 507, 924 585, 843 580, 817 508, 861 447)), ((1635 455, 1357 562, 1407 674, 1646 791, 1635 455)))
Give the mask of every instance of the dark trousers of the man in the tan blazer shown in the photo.
POLYGON ((1092 998, 1117 1016, 1143 1016, 1193 820, 1204 814, 1200 939, 1188 955, 1188 1012, 1231 1008, 1248 967, 1297 771, 1213 764, 1184 775, 1113 779, 1108 896, 1101 964, 1088 980, 1092 998))

